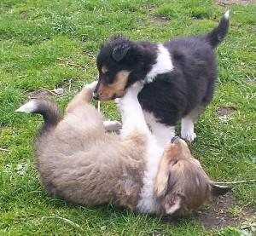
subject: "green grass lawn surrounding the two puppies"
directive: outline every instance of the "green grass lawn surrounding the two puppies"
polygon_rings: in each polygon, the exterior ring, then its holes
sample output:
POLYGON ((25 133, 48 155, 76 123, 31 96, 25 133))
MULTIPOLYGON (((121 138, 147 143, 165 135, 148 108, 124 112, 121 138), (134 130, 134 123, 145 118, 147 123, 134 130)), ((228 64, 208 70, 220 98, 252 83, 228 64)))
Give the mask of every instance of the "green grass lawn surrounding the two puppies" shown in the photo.
MULTIPOLYGON (((97 78, 96 55, 111 35, 162 42, 199 34, 216 26, 226 9, 231 26, 217 49, 216 95, 195 126, 197 139, 190 147, 215 181, 256 179, 255 3, 1 0, 0 148, 5 150, 0 151, 0 235, 240 235, 238 220, 235 227, 211 229, 197 216, 172 221, 50 198, 32 164, 42 119, 14 112, 32 92, 55 88, 64 89, 54 96, 63 109, 84 83, 97 78)), ((102 103, 102 111, 119 118, 113 102, 102 103)), ((255 196, 256 183, 234 186, 227 214, 237 219, 245 210, 256 214, 255 196)))

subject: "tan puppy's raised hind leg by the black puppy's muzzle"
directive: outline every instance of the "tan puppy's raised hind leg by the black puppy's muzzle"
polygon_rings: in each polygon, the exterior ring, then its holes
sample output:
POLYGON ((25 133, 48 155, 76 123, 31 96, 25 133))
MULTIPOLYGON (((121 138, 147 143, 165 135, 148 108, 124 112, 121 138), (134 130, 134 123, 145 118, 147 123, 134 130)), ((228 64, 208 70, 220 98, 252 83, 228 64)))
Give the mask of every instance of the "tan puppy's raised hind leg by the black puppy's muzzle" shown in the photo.
POLYGON ((84 88, 79 92, 78 95, 75 95, 72 101, 67 105, 66 112, 73 112, 73 110, 81 105, 85 105, 91 101, 92 93, 96 88, 97 81, 86 84, 84 88))

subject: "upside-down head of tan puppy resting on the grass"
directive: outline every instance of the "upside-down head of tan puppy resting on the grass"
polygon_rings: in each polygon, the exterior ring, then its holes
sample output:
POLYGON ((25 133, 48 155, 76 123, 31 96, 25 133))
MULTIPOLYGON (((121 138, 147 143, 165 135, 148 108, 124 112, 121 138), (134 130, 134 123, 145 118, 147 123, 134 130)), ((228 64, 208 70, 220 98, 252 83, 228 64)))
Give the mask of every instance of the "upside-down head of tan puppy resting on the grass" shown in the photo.
POLYGON ((186 142, 172 138, 160 162, 154 191, 165 215, 184 216, 230 187, 214 184, 192 157, 186 142))

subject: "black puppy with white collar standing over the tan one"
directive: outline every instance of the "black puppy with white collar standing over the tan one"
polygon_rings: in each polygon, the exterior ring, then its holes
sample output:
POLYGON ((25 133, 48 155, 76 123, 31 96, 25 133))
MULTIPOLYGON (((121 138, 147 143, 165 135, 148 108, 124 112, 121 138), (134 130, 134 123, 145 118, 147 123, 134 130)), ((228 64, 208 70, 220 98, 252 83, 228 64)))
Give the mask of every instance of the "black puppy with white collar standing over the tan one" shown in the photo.
POLYGON ((138 99, 159 144, 165 146, 175 135, 180 119, 182 137, 193 141, 195 120, 214 92, 217 65, 213 49, 226 36, 229 21, 228 11, 211 32, 165 43, 111 38, 97 56, 99 80, 94 98, 122 97, 132 83, 143 80, 138 99))

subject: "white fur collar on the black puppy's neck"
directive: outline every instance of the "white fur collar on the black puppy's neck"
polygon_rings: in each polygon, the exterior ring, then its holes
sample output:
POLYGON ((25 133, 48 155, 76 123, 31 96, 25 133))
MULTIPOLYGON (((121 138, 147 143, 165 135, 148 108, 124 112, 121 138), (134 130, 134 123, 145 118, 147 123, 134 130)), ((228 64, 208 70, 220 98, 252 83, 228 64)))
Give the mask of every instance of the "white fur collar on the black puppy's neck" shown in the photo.
POLYGON ((156 63, 146 76, 145 83, 151 83, 158 74, 171 72, 173 70, 171 55, 163 44, 158 44, 156 63))

